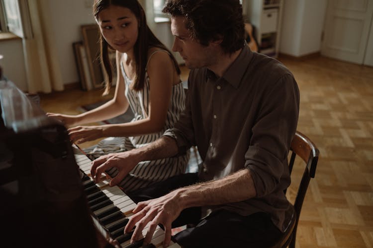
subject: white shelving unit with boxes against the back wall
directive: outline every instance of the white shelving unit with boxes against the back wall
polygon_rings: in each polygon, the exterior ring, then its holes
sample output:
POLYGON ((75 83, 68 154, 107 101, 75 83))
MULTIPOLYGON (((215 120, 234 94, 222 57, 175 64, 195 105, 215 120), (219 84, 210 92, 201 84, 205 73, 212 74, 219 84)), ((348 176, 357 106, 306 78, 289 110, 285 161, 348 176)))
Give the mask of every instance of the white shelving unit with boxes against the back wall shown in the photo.
POLYGON ((246 21, 256 30, 260 53, 277 58, 283 0, 243 0, 246 21))

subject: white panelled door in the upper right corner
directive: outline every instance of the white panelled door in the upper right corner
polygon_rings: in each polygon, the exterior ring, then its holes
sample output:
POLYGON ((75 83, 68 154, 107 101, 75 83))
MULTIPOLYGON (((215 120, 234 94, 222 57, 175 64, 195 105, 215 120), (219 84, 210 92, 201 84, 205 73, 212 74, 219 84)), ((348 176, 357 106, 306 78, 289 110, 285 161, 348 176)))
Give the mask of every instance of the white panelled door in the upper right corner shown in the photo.
POLYGON ((321 54, 362 64, 372 14, 373 0, 329 0, 321 54))

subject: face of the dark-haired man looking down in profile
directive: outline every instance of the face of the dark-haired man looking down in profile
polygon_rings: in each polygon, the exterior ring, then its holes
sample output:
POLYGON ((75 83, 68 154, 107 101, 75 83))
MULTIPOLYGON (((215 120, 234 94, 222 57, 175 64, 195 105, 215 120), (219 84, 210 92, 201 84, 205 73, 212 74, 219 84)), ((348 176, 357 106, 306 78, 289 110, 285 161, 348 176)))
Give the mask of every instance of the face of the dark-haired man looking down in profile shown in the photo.
POLYGON ((211 43, 202 46, 197 40, 193 40, 186 28, 184 17, 171 18, 171 31, 175 36, 172 51, 179 52, 189 69, 209 67, 216 62, 216 47, 211 43))

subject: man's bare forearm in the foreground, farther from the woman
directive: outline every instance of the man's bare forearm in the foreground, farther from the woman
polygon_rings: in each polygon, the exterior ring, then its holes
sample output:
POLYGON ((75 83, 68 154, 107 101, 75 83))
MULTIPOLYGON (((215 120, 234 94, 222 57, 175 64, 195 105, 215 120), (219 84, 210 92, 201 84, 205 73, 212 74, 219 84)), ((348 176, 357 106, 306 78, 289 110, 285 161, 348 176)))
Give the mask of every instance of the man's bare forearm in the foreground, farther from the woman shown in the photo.
POLYGON ((175 190, 184 208, 238 202, 256 196, 251 172, 243 169, 225 178, 175 190))

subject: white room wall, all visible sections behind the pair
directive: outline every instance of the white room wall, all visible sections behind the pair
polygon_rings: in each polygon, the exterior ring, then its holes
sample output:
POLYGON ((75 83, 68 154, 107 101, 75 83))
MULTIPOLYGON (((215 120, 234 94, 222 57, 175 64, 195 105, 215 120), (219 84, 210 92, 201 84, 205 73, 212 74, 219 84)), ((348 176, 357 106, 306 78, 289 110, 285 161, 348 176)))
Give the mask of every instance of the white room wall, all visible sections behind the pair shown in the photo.
MULTIPOLYGON (((79 81, 72 44, 82 40, 80 26, 94 23, 92 0, 48 1, 48 35, 54 36, 64 84, 79 81)), ((144 5, 151 1, 145 0, 144 5)), ((149 6, 149 7, 150 7, 149 6)), ((148 7, 148 6, 146 6, 148 7)), ((326 0, 284 0, 280 52, 302 56, 320 51, 320 37, 324 22, 326 0)), ((147 11, 149 20, 152 16, 147 11)), ((148 20, 148 22, 149 22, 148 20)), ((154 33, 171 49, 173 36, 170 23, 149 23, 154 33)), ((20 40, 0 41, 0 61, 7 77, 25 90, 26 73, 20 40), (11 60, 9 60, 11 58, 11 60)), ((178 58, 179 62, 183 62, 178 58)))

